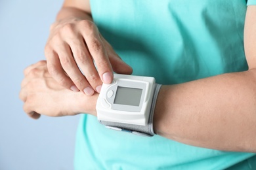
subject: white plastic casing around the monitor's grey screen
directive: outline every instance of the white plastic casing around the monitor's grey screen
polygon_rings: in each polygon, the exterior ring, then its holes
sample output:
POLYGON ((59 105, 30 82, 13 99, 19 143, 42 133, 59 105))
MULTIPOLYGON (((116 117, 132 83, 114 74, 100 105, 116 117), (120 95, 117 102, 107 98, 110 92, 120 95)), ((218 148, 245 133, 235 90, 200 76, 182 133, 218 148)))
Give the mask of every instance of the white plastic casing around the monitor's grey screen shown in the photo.
POLYGON ((145 126, 148 124, 154 84, 154 77, 114 74, 112 84, 102 84, 96 103, 98 120, 145 126), (142 89, 139 106, 114 103, 117 88, 120 86, 142 89))

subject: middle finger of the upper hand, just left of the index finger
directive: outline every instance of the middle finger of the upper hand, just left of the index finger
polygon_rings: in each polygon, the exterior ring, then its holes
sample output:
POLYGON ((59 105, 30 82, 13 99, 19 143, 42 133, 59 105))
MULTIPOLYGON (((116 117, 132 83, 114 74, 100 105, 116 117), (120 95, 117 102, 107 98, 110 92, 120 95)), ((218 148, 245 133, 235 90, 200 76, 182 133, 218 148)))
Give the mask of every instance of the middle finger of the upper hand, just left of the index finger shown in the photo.
POLYGON ((74 54, 75 62, 79 65, 81 71, 83 71, 85 78, 91 87, 96 92, 99 92, 102 81, 100 80, 98 71, 96 71, 91 54, 89 54, 85 46, 83 37, 78 37, 75 41, 70 41, 70 48, 74 54))

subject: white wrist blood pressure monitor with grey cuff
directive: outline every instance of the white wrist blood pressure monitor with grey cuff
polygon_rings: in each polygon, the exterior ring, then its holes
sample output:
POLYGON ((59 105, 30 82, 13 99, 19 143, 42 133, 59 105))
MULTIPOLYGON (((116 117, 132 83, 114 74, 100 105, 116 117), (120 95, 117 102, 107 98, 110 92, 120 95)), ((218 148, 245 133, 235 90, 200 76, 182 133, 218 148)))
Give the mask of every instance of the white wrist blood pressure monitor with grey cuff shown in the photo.
POLYGON ((114 74, 111 84, 102 84, 96 103, 98 121, 110 129, 153 136, 160 87, 153 77, 114 74))

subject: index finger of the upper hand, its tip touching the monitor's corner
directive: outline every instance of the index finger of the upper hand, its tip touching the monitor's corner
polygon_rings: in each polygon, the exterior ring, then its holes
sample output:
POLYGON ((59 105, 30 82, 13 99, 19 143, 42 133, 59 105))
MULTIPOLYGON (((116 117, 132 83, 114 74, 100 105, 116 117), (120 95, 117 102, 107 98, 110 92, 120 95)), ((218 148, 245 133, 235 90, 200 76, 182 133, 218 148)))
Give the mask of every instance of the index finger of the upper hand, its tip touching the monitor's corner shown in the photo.
POLYGON ((95 61, 96 67, 98 69, 98 75, 100 75, 102 82, 110 84, 113 80, 112 66, 96 26, 91 33, 84 33, 83 37, 89 52, 95 61))

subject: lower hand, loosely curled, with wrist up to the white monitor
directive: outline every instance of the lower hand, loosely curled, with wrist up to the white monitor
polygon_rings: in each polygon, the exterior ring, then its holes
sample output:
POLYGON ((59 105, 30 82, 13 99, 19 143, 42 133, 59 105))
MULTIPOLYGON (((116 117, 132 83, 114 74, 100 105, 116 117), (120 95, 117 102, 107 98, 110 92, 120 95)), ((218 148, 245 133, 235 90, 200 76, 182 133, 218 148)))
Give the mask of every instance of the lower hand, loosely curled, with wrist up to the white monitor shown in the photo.
POLYGON ((47 70, 46 61, 39 61, 24 70, 20 99, 24 111, 32 118, 46 116, 68 116, 81 112, 96 115, 96 99, 82 92, 67 90, 58 84, 47 70))

